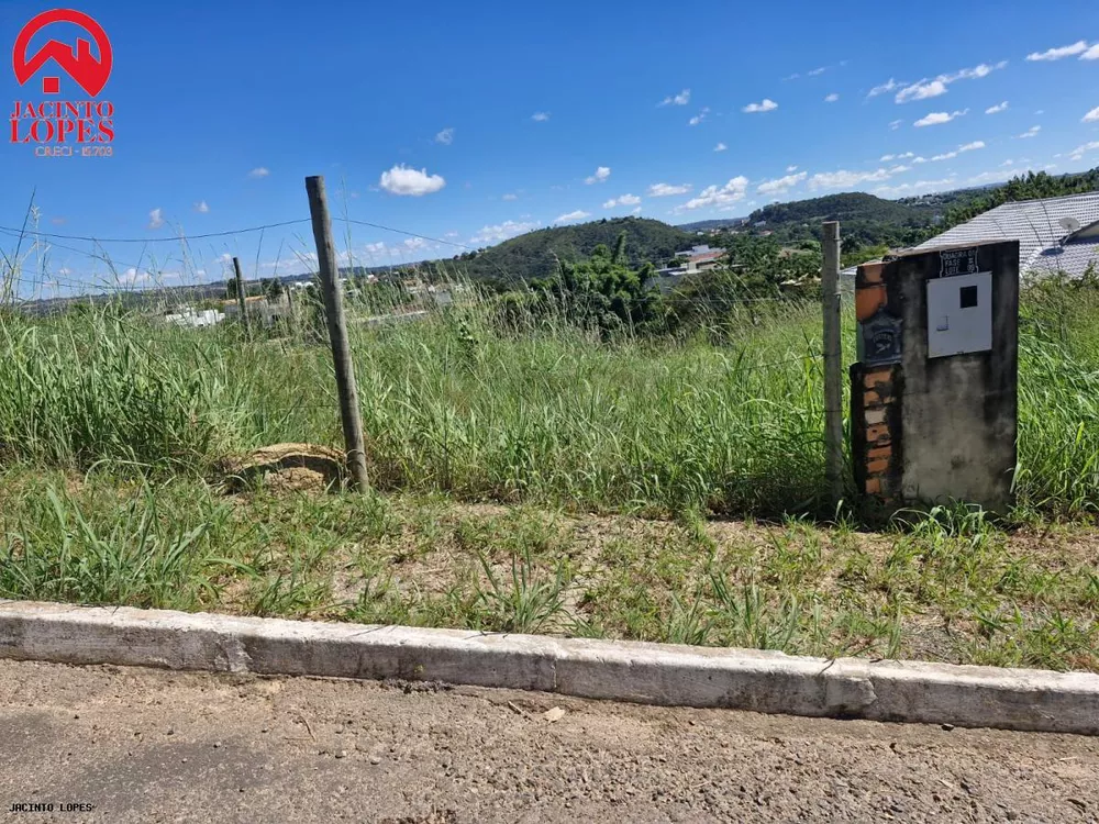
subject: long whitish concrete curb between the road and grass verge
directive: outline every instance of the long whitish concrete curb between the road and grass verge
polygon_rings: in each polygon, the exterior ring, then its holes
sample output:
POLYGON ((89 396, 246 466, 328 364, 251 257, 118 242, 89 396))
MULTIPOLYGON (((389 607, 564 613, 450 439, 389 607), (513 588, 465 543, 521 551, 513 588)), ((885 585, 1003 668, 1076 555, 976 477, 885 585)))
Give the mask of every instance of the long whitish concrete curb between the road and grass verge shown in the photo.
POLYGON ((397 678, 788 715, 1099 734, 1099 676, 0 601, 0 658, 397 678))

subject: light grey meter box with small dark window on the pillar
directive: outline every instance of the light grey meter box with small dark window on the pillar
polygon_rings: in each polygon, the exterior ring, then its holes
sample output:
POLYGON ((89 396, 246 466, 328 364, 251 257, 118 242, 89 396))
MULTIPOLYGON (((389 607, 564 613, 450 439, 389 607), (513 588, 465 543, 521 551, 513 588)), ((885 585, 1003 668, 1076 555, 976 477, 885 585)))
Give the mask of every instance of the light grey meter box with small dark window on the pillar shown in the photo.
POLYGON ((928 357, 992 348, 992 272, 928 281, 928 357))

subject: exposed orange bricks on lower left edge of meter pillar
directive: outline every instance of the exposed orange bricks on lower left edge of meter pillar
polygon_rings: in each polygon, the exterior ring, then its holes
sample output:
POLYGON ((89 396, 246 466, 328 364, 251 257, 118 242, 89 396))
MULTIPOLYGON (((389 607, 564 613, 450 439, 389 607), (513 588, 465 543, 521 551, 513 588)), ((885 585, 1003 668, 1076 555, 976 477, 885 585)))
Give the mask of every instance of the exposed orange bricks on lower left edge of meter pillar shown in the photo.
POLYGON ((900 494, 900 365, 851 367, 852 459, 858 491, 882 503, 900 494))

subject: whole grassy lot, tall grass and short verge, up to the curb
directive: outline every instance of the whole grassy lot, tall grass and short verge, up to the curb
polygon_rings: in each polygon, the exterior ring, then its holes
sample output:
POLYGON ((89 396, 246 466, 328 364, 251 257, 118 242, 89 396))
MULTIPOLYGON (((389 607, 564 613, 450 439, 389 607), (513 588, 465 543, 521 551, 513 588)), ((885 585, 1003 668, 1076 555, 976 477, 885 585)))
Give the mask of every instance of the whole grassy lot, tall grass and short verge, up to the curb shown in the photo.
POLYGON ((1024 307, 1019 511, 884 533, 821 503, 813 305, 659 341, 359 326, 365 495, 218 487, 338 444, 308 337, 4 318, 0 597, 1099 671, 1099 292, 1024 307))

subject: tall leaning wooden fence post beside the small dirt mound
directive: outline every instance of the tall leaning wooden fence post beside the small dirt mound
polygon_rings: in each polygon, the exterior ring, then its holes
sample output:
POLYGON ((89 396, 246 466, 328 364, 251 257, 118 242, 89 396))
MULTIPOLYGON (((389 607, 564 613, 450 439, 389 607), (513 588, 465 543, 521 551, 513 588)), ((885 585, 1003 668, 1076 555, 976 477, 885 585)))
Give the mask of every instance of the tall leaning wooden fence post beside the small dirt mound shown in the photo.
POLYGON ((351 344, 347 341, 347 326, 344 323, 343 292, 340 286, 340 270, 336 267, 336 245, 332 240, 329 202, 324 194, 324 178, 307 177, 306 191, 309 194, 309 213, 313 219, 317 263, 321 276, 321 291, 324 292, 324 314, 329 324, 329 341, 332 343, 332 360, 336 369, 336 390, 340 394, 340 415, 343 419, 347 466, 353 486, 356 489, 366 489, 363 419, 358 412, 355 368, 351 356, 351 344))

